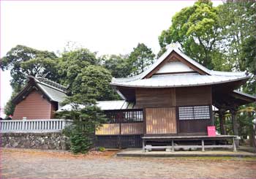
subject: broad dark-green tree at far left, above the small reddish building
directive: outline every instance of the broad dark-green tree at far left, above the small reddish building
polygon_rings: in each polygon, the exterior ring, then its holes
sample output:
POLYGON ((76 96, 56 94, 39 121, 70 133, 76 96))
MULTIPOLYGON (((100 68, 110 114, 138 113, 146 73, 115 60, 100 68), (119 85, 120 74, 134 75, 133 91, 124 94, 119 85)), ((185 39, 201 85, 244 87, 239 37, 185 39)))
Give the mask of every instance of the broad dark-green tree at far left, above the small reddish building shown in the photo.
POLYGON ((0 66, 2 70, 10 69, 12 88, 18 92, 26 83, 26 75, 40 76, 48 73, 50 80, 56 80, 55 61, 56 55, 53 52, 17 45, 1 58, 0 66))

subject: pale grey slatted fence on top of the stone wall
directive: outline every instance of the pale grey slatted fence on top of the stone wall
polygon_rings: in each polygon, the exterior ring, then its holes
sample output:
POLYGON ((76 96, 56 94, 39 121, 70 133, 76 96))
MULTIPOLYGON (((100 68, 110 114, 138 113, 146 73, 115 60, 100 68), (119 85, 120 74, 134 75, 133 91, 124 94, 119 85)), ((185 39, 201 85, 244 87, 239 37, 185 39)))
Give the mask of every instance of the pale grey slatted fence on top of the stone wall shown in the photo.
POLYGON ((1 120, 0 132, 61 132, 70 123, 64 119, 1 120))

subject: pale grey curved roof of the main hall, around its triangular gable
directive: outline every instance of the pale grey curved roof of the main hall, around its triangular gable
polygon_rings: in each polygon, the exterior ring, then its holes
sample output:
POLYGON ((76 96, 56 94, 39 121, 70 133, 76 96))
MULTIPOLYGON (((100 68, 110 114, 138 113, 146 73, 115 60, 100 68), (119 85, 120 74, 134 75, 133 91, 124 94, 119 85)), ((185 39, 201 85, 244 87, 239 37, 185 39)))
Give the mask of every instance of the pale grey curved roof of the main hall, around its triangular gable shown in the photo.
POLYGON ((124 87, 140 87, 140 88, 167 88, 167 87, 184 87, 195 85, 212 85, 218 83, 227 83, 236 80, 245 80, 249 76, 246 72, 218 72, 207 69, 197 61, 192 60, 187 55, 178 50, 178 48, 169 48, 167 51, 155 61, 154 64, 148 67, 146 71, 135 77, 113 78, 111 85, 124 87), (184 58, 187 63, 197 67, 206 75, 195 73, 173 74, 173 75, 153 75, 150 78, 145 78, 149 73, 159 66, 162 61, 170 55, 170 53, 178 53, 184 58))

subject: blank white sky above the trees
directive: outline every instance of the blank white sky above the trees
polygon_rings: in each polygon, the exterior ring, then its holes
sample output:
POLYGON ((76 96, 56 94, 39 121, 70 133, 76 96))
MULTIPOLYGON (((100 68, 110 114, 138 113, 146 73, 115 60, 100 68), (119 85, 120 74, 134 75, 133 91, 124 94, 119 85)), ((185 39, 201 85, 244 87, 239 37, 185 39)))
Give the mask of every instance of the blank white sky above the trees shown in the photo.
MULTIPOLYGON (((16 45, 57 52, 67 42, 102 54, 126 54, 138 42, 158 53, 172 16, 195 1, 1 1, 1 57, 16 45)), ((222 1, 214 1, 214 6, 222 1)), ((1 72, 1 107, 12 89, 1 72)), ((2 114, 1 114, 2 116, 2 114)))

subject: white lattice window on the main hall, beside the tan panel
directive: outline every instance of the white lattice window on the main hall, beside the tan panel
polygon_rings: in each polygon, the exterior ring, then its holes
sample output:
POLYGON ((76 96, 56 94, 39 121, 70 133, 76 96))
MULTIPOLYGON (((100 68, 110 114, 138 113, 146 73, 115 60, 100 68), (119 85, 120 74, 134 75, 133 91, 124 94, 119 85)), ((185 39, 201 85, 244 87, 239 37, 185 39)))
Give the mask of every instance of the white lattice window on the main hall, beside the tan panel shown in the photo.
POLYGON ((210 119, 210 106, 178 107, 179 120, 210 119))

